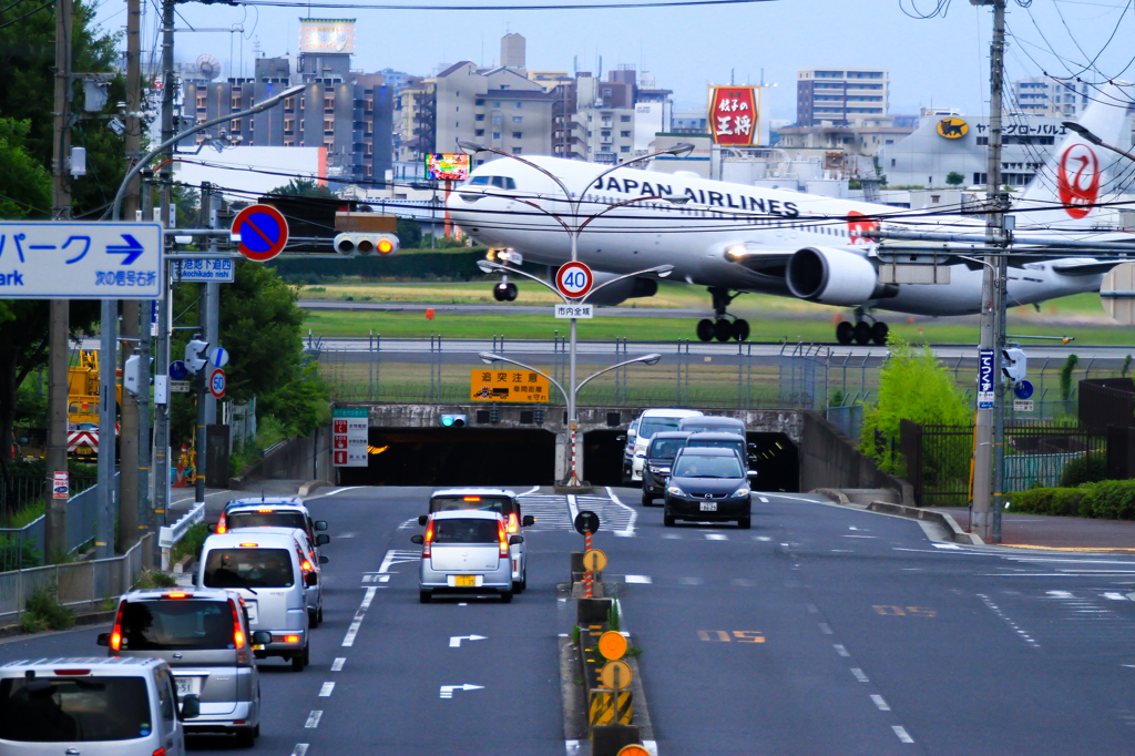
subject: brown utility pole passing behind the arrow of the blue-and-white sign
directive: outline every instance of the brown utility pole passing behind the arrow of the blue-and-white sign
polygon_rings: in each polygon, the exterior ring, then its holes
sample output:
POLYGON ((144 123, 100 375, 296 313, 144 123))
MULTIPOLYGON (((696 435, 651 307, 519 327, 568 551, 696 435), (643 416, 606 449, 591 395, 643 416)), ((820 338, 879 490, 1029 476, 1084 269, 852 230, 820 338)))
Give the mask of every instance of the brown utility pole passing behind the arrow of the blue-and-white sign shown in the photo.
MULTIPOLYGON (((142 2, 126 1, 126 169, 142 157, 142 2)), ((138 210, 138 179, 133 179, 123 198, 123 217, 134 221, 138 210)), ((138 337, 138 302, 123 301, 123 356, 132 352, 138 337)), ((125 379, 125 376, 124 376, 125 379)), ((125 380, 124 380, 125 383, 125 380)), ((145 385, 149 393, 149 384, 145 385)), ((138 388, 141 397, 142 386, 138 388)), ((119 473, 118 551, 126 553, 138 539, 138 408, 123 392, 121 403, 121 472, 119 473)))

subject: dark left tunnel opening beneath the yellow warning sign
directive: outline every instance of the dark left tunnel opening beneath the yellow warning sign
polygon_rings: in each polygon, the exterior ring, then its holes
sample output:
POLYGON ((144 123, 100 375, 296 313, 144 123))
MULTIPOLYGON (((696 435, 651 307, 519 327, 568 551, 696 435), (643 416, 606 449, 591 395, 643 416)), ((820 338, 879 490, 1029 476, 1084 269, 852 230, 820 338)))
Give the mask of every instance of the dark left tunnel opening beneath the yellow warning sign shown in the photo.
POLYGON ((339 485, 547 486, 554 454, 546 430, 371 428, 369 465, 339 468, 339 485))

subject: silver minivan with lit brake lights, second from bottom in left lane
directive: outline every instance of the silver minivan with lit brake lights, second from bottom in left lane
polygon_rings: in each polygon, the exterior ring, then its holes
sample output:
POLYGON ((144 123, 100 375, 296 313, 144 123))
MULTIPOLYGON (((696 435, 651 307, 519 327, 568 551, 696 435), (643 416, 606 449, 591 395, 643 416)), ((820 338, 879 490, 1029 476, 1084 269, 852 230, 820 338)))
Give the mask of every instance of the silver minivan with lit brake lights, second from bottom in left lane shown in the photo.
POLYGON ((196 696, 201 713, 185 722, 193 732, 222 732, 252 746, 260 734, 260 674, 254 644, 271 633, 249 627, 239 594, 212 588, 132 590, 118 603, 115 629, 99 636, 110 656, 163 660, 178 696, 196 696))

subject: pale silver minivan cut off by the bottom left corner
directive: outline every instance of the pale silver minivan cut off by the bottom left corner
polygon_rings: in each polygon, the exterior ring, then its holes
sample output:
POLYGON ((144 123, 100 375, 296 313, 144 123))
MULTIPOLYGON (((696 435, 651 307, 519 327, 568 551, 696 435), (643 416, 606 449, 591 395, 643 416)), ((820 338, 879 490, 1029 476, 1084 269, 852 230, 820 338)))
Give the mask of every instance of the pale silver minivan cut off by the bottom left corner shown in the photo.
POLYGON ((0 666, 0 753, 6 756, 184 756, 180 700, 160 658, 40 658, 0 666))

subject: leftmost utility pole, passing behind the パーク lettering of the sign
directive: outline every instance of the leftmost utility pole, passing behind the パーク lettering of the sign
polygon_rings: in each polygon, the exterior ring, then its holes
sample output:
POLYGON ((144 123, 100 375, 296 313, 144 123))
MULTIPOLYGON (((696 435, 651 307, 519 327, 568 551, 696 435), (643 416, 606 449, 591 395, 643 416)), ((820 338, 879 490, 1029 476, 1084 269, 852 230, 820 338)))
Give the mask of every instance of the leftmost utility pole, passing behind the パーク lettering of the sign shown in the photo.
MULTIPOLYGON (((51 159, 51 217, 70 220, 70 188, 67 184, 66 162, 70 152, 72 100, 72 0, 56 1, 56 81, 53 102, 52 159, 51 159)), ((54 473, 67 471, 67 368, 70 348, 70 301, 51 300, 48 330, 48 457, 43 501, 44 556, 49 561, 67 553, 67 501, 56 498, 54 473)))

